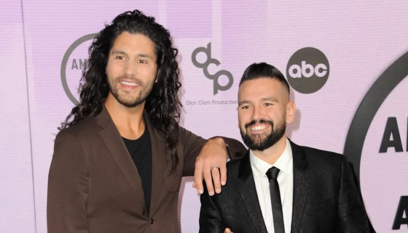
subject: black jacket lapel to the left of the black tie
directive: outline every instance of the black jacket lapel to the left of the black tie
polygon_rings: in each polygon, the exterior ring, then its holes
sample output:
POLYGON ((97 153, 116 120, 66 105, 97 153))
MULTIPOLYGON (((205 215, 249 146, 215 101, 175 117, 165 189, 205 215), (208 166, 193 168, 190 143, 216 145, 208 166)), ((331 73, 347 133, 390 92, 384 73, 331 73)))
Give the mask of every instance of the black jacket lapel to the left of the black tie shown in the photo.
POLYGON ((267 233, 262 211, 259 206, 258 195, 256 193, 249 151, 240 162, 238 178, 239 193, 252 219, 256 232, 267 233))

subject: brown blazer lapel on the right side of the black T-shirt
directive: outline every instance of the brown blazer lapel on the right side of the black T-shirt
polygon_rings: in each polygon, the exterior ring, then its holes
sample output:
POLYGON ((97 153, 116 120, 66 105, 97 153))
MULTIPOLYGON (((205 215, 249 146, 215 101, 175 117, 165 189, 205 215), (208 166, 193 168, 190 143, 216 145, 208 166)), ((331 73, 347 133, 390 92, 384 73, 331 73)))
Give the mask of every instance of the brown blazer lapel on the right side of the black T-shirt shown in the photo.
POLYGON ((157 210, 156 203, 158 201, 160 188, 163 183, 164 176, 167 174, 167 143, 166 137, 162 132, 153 128, 150 117, 144 112, 145 125, 148 127, 150 140, 152 143, 152 200, 151 200, 151 215, 157 210))

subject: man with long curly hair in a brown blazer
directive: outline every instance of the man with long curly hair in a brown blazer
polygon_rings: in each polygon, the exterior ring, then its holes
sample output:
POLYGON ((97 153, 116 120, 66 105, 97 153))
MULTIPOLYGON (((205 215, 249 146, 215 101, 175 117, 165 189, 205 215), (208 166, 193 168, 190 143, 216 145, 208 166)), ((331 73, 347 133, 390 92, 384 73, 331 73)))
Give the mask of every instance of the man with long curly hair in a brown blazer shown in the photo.
POLYGON ((199 193, 203 177, 221 191, 227 155, 246 148, 178 125, 177 53, 169 31, 138 10, 94 39, 80 103, 55 138, 48 233, 176 233, 182 176, 194 175, 199 193))

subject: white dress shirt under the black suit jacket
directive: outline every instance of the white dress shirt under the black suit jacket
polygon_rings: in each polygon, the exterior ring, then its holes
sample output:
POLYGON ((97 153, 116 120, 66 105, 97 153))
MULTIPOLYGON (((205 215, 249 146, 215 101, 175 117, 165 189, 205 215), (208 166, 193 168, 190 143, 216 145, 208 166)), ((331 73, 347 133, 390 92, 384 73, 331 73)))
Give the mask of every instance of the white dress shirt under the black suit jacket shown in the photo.
POLYGON ((273 165, 258 159, 252 153, 252 151, 250 151, 250 158, 252 172, 254 173, 256 193, 258 195, 259 205, 261 207, 263 220, 268 233, 275 233, 275 230, 272 216, 271 194, 269 192, 269 180, 266 176, 266 172, 273 166, 280 169, 278 184, 280 190, 280 200, 282 201, 283 223, 285 233, 290 233, 293 202, 293 160, 292 148, 289 140, 286 138, 286 148, 273 165))

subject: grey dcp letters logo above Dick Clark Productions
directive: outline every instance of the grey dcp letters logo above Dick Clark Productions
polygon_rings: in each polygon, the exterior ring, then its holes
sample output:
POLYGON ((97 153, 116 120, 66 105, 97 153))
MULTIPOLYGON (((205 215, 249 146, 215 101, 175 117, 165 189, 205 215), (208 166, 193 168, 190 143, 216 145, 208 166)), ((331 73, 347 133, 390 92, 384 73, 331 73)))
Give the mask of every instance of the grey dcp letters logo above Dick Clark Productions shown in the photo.
POLYGON ((198 47, 194 49, 193 53, 191 54, 191 61, 193 62, 194 66, 203 69, 205 77, 213 80, 214 95, 216 95, 218 91, 227 91, 232 87, 234 79, 232 77, 232 74, 228 70, 220 70, 215 74, 210 74, 208 72, 208 65, 215 64, 216 66, 219 66, 221 64, 220 61, 211 57, 211 42, 208 43, 207 47, 198 47), (199 63, 197 61, 197 54, 200 52, 205 53, 206 60, 204 63, 199 63), (228 83, 225 86, 220 85, 220 83, 218 82, 218 79, 220 78, 221 75, 225 75, 228 77, 228 83))

